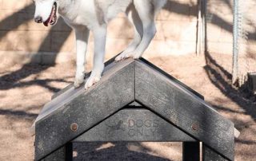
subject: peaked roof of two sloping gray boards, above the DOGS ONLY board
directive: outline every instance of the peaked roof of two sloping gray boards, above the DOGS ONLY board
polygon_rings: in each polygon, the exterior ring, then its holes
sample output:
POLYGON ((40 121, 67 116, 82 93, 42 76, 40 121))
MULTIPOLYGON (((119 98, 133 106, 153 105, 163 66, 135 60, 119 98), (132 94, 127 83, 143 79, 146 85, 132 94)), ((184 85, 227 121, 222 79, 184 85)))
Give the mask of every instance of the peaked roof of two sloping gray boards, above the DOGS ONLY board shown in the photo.
POLYGON ((55 104, 39 115, 36 160, 95 128, 133 101, 202 141, 217 154, 234 160, 234 124, 210 108, 196 92, 143 60, 110 65, 94 87, 88 91, 83 87, 66 88, 66 92, 53 100, 55 104), (70 130, 73 123, 78 124, 76 132, 70 130))

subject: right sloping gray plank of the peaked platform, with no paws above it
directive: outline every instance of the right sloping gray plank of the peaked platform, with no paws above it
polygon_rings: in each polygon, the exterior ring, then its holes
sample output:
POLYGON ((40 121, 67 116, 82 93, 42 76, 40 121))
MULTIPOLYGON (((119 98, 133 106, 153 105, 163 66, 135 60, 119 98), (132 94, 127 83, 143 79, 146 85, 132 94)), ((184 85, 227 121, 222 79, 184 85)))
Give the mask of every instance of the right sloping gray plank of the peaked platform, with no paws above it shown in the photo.
POLYGON ((234 124, 210 105, 142 61, 135 63, 135 100, 195 139, 234 159, 234 124))

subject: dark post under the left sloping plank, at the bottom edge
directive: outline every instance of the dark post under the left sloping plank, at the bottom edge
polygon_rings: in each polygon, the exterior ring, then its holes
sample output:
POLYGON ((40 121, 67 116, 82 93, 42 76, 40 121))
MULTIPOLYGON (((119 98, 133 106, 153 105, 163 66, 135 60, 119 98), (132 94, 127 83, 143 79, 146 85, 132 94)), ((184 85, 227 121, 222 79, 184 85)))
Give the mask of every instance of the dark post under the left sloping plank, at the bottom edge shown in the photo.
POLYGON ((72 161, 73 160, 73 146, 72 143, 66 143, 65 146, 60 147, 50 155, 46 156, 42 161, 72 161))

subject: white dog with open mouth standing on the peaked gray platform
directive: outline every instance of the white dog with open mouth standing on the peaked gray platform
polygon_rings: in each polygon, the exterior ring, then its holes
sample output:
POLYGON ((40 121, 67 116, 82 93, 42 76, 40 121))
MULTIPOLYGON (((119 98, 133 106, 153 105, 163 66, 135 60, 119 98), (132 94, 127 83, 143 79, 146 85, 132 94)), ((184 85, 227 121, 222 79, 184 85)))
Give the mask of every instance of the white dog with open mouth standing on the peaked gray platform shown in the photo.
POLYGON ((34 21, 54 25, 60 15, 74 29, 77 69, 74 87, 84 82, 85 55, 89 30, 94 33, 94 67, 85 88, 97 83, 104 69, 106 25, 118 13, 125 12, 134 25, 134 40, 116 61, 142 57, 156 33, 154 18, 166 0, 34 0, 34 21))

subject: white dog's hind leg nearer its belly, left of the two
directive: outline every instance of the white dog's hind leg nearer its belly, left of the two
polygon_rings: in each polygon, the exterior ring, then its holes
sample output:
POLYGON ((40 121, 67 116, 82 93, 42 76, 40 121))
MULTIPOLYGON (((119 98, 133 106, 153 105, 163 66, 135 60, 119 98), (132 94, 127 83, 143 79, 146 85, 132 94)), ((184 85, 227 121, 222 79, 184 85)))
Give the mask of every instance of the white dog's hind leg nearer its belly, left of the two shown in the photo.
POLYGON ((142 41, 143 36, 143 26, 142 21, 138 17, 138 12, 135 10, 134 4, 131 4, 127 10, 126 15, 131 24, 134 26, 134 40, 130 42, 130 45, 118 56, 115 58, 115 61, 121 61, 126 57, 130 57, 130 53, 138 47, 142 41))

